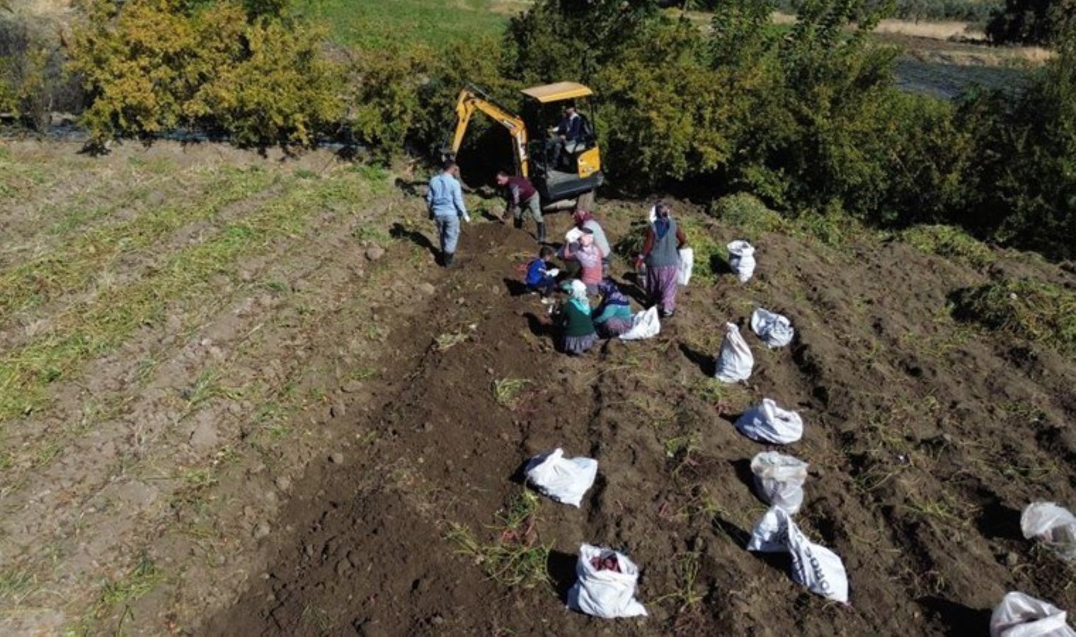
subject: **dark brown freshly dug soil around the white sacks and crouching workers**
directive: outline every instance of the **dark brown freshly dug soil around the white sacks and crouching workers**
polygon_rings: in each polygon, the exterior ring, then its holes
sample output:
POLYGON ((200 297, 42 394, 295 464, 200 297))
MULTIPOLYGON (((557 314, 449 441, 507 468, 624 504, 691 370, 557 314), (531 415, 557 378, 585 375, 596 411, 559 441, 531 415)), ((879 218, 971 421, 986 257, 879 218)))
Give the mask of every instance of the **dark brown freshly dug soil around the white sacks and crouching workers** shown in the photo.
MULTIPOLYGON (((637 213, 607 208, 607 231, 637 213)), ((552 223, 556 236, 567 222, 552 223)), ((873 240, 833 251, 773 235, 759 249, 754 281, 684 289, 657 338, 569 358, 553 351, 546 308, 513 296, 529 237, 466 227, 458 267, 394 331, 390 391, 356 419, 362 435, 297 485, 270 566, 206 632, 983 634, 1010 590, 1076 607, 1072 571, 1018 528, 1032 500, 1076 502, 1073 362, 948 320, 948 294, 989 273, 873 240), (721 326, 756 306, 788 314, 796 340, 768 351, 747 336, 750 382, 717 384, 721 326), (528 382, 511 406, 492 391, 505 379, 528 382), (797 522, 844 558, 848 607, 744 549, 765 511, 749 464, 767 447, 733 423, 762 397, 805 417, 804 439, 782 450, 811 465, 797 522), (597 458, 598 481, 581 509, 540 505, 552 584, 505 588, 445 530, 496 541, 521 466, 556 447, 597 458), (649 618, 565 610, 581 542, 640 565, 649 618)))

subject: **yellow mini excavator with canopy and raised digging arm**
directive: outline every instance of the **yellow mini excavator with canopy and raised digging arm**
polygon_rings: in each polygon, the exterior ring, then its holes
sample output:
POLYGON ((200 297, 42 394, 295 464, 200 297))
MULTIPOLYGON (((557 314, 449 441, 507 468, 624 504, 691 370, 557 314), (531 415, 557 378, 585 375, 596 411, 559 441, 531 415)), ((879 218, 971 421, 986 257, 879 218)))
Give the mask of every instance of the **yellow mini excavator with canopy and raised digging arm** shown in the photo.
POLYGON ((476 110, 481 111, 504 126, 512 137, 515 174, 526 176, 534 183, 543 208, 571 199, 576 200, 577 208, 590 207, 594 200, 594 192, 605 178, 601 174, 597 135, 586 117, 586 113, 591 111, 585 103, 577 105, 577 102, 585 102, 593 91, 582 84, 558 82, 525 88, 523 95, 537 105, 528 109, 528 112, 535 111, 529 129, 522 117, 498 105, 481 88, 468 84, 459 91, 452 146, 444 154, 447 157, 456 156, 471 116, 476 110), (583 108, 578 111, 582 118, 579 137, 566 142, 550 126, 560 121, 561 109, 557 107, 568 105, 583 108))

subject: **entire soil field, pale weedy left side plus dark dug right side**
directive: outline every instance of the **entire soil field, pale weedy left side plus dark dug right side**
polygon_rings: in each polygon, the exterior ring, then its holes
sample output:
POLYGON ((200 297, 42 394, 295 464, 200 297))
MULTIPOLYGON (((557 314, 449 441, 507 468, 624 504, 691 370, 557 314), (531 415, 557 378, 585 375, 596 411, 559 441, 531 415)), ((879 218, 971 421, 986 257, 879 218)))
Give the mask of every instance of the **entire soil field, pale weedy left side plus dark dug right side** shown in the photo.
MULTIPOLYGON (((948 307, 1000 278, 1071 291, 1071 268, 678 202, 713 258, 677 316, 569 358, 496 201, 469 198, 445 271, 402 171, 2 153, 2 633, 966 635, 1010 590, 1076 608, 1071 567, 1019 532, 1032 500, 1076 504, 1076 363, 948 307), (744 237, 746 285, 711 250, 744 237), (713 381, 722 326, 759 306, 795 341, 747 335, 750 381, 713 381), (784 449, 811 465, 797 522, 844 558, 847 607, 745 550, 769 448, 733 423, 763 397, 806 421, 784 449), (520 483, 555 447, 599 462, 581 509, 520 483), (582 542, 640 565, 649 618, 564 608, 582 542)), ((615 240, 645 209, 597 214, 615 240)))

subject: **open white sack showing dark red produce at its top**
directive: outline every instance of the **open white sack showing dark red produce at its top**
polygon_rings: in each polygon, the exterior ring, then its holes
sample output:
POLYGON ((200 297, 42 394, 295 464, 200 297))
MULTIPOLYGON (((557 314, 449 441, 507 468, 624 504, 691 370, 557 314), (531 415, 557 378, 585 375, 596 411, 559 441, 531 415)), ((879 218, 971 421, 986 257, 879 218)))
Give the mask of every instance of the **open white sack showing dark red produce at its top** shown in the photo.
POLYGON ((627 555, 583 544, 579 547, 576 578, 576 583, 568 591, 568 608, 605 619, 647 614, 647 609, 635 599, 639 568, 627 555), (610 556, 615 557, 619 572, 598 570, 592 564, 595 557, 603 561, 610 556))

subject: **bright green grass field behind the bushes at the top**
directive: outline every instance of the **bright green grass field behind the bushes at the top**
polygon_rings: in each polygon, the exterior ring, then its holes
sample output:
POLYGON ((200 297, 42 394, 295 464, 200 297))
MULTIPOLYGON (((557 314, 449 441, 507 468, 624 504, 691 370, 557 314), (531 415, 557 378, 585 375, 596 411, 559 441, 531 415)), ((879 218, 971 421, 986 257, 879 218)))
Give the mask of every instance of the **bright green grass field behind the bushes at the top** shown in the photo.
POLYGON ((499 36, 508 15, 495 12, 494 4, 492 0, 306 0, 299 9, 326 25, 330 38, 342 44, 444 48, 475 37, 499 36))

